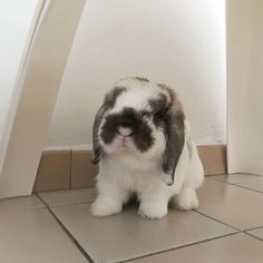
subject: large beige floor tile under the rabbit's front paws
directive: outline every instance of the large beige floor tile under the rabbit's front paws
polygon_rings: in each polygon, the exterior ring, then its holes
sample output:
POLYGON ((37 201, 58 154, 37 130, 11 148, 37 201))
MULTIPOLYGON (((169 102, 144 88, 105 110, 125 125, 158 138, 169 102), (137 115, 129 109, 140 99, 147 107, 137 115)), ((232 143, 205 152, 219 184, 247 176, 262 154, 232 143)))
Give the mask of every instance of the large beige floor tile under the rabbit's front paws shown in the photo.
POLYGON ((129 206, 118 215, 92 217, 90 203, 52 207, 95 262, 116 262, 234 232, 195 212, 171 211, 149 221, 129 206))

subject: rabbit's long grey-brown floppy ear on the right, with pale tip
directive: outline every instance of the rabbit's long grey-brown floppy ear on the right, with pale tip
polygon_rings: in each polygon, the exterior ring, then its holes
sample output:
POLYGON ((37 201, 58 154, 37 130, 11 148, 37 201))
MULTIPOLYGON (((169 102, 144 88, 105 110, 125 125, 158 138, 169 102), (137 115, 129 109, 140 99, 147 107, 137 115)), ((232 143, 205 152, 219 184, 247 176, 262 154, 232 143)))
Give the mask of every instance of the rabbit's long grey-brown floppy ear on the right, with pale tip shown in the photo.
POLYGON ((174 174, 185 144, 184 113, 177 96, 166 86, 163 89, 169 94, 169 106, 165 114, 164 133, 166 147, 163 158, 162 178, 167 185, 174 183, 174 174))

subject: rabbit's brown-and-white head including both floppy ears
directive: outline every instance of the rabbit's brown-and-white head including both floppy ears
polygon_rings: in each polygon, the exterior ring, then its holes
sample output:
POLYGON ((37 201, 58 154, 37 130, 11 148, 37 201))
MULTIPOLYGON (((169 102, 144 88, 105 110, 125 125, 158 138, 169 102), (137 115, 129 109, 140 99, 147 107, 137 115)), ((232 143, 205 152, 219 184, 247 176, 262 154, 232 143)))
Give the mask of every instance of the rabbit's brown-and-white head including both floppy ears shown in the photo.
POLYGON ((123 79, 96 115, 92 160, 129 154, 158 162, 172 183, 184 140, 184 114, 175 92, 144 78, 123 79))

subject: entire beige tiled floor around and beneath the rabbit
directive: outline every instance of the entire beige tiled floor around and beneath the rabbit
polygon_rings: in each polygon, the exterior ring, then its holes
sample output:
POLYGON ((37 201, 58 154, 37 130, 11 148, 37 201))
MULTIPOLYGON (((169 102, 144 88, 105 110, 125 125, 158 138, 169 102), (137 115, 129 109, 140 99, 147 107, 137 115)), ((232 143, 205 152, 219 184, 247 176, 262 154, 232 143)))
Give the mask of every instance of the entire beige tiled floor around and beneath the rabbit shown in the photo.
POLYGON ((263 262, 263 177, 210 176, 197 211, 95 218, 94 188, 0 201, 0 262, 263 262))

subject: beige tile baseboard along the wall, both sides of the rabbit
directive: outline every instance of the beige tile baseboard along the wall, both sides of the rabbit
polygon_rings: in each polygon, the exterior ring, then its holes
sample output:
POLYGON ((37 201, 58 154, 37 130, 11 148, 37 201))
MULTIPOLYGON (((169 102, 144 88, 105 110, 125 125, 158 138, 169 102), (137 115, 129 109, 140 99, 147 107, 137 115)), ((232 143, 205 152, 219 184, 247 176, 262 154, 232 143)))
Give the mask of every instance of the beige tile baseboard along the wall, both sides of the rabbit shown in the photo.
MULTIPOLYGON (((205 175, 226 173, 225 145, 198 146, 205 175)), ((90 164, 89 149, 48 149, 42 152, 35 192, 90 187, 98 167, 90 164)))

